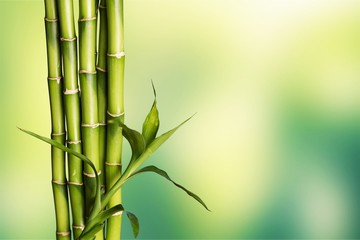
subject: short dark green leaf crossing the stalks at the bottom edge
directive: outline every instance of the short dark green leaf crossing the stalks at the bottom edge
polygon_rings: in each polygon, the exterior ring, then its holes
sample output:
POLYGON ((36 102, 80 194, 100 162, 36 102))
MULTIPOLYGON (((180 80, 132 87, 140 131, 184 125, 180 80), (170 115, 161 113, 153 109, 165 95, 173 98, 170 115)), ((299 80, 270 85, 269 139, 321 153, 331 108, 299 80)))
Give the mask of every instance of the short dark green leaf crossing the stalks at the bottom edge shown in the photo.
POLYGON ((123 206, 121 204, 118 204, 112 208, 100 212, 95 218, 89 220, 89 222, 85 226, 84 231, 81 233, 80 237, 89 236, 90 235, 89 232, 95 235, 98 231, 101 230, 98 228, 99 225, 102 225, 106 219, 108 219, 115 213, 123 212, 123 211, 124 211, 123 206), (98 229, 98 231, 95 231, 94 229, 98 229))

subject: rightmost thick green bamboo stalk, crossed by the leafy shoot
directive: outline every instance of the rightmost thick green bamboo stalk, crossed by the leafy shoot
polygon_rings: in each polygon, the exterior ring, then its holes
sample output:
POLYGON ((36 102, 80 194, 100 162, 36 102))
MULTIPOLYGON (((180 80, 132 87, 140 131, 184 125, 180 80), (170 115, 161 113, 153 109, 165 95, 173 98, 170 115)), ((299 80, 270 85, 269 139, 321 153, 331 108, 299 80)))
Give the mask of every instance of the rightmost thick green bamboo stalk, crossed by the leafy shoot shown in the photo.
MULTIPOLYGON (((123 0, 107 0, 108 20, 108 119, 124 121, 124 16, 123 0)), ((122 128, 111 121, 107 126, 106 189, 109 190, 121 176, 122 128)), ((120 204, 121 189, 110 199, 108 207, 120 204)), ((122 216, 108 220, 107 240, 121 236, 122 216)))

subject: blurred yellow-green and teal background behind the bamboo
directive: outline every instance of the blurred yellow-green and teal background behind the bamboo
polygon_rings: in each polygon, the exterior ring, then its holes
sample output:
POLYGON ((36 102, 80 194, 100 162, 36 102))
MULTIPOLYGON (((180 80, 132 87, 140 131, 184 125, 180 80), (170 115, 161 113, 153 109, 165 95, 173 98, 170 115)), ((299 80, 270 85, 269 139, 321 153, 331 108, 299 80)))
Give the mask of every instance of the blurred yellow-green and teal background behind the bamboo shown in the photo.
MULTIPOLYGON (((126 121, 197 115, 125 189, 139 238, 360 238, 360 1, 126 0, 126 121)), ((54 238, 42 1, 0 1, 0 238, 54 238)), ((126 222, 124 236, 131 238, 126 222)))

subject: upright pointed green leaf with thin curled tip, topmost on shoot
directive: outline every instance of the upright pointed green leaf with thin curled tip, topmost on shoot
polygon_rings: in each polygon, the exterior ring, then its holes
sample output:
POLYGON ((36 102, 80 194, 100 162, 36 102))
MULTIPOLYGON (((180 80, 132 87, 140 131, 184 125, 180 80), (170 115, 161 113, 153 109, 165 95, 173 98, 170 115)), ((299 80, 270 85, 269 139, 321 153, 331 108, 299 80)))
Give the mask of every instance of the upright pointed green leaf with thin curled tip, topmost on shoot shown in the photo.
POLYGON ((156 91, 153 82, 151 81, 153 90, 154 90, 154 103, 150 109, 150 112, 146 116, 146 119, 143 123, 142 135, 144 136, 146 145, 149 145, 156 137, 156 134, 159 130, 159 111, 156 108, 156 91))

